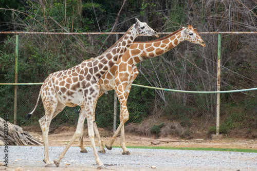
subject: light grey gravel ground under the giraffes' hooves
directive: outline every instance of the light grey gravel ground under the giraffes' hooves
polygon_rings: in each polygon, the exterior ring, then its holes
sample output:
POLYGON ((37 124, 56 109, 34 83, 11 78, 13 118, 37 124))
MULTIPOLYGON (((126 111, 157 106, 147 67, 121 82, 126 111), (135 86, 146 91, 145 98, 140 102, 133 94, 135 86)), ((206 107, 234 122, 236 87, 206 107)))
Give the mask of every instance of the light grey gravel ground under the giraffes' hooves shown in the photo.
MULTIPOLYGON (((4 147, 1 149, 3 162, 4 147)), ((57 159, 64 147, 49 147, 50 160, 57 159)), ((70 147, 60 167, 44 167, 43 146, 9 146, 8 169, 22 167, 23 170, 93 170, 97 168, 93 149, 79 152, 79 147, 70 147), (67 165, 66 165, 67 164, 67 165)), ((108 170, 257 170, 256 153, 227 151, 196 151, 166 149, 129 148, 131 155, 122 155, 121 148, 113 148, 106 154, 98 154, 108 170)), ((105 169, 103 169, 105 170, 105 169)))

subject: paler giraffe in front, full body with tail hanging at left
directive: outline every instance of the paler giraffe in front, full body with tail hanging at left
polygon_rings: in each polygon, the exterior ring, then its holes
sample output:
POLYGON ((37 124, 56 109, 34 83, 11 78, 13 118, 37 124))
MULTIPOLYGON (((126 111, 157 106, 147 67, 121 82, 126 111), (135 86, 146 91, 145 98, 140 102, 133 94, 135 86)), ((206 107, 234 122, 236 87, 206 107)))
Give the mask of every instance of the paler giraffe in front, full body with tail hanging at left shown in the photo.
POLYGON ((40 89, 38 101, 32 112, 27 115, 27 119, 29 119, 35 111, 41 97, 45 115, 39 120, 39 123, 44 140, 45 158, 43 161, 46 163, 46 167, 51 166, 48 151, 48 132, 51 120, 56 117, 65 106, 81 106, 75 134, 59 155, 58 159, 53 162, 58 167, 71 144, 78 137, 82 136, 81 133, 83 133, 83 124, 86 118, 88 136, 93 146, 96 163, 98 164, 98 168, 104 168, 103 163, 98 157, 94 141, 93 122, 95 121, 95 116, 93 107, 94 101, 99 94, 97 82, 101 76, 121 58, 137 36, 159 36, 157 32, 146 23, 141 23, 137 18, 136 21, 136 24, 131 26, 121 39, 108 48, 103 54, 94 59, 83 61, 75 67, 51 73, 44 81, 40 89))

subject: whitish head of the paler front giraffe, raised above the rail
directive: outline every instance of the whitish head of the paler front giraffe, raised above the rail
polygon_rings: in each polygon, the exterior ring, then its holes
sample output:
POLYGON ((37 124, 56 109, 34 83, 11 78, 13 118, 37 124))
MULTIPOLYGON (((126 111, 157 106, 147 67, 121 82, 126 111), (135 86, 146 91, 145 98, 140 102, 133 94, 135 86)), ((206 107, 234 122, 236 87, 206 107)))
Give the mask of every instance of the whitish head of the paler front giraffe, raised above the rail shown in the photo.
POLYGON ((159 37, 158 33, 154 31, 151 27, 149 27, 146 23, 141 23, 136 18, 136 24, 134 25, 134 28, 136 29, 137 36, 143 35, 143 36, 153 36, 153 37, 159 37))

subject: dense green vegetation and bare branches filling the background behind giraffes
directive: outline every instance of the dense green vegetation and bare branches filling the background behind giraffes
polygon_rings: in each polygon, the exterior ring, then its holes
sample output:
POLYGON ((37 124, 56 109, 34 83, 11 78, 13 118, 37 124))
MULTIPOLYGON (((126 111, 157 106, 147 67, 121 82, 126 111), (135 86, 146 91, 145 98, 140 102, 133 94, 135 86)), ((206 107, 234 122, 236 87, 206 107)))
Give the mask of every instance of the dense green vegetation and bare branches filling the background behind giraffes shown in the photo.
MULTIPOLYGON (((108 32, 116 21, 123 1, 0 1, 0 31, 39 32, 108 32), (20 11, 20 12, 19 12, 20 11)), ((148 23, 157 32, 173 32, 187 23, 202 31, 256 31, 254 2, 244 6, 235 2, 211 1, 126 1, 115 30, 125 32, 135 23, 134 18, 148 23), (247 8, 246 8, 247 7, 247 8), (249 11, 249 9, 252 9, 249 11)), ((163 36, 163 35, 160 35, 163 36)), ((200 34, 206 47, 189 42, 164 53, 159 58, 137 64, 139 74, 135 84, 179 90, 216 90, 217 36, 200 34)), ((20 34, 19 83, 43 82, 47 75, 73 67, 84 60, 94 58, 107 35, 43 35, 20 34)), ((121 35, 119 35, 121 37, 121 35)), ((257 87, 256 34, 222 34, 221 90, 257 87)), ((138 37, 137 41, 154 40, 138 37)), ((15 35, 0 34, 0 83, 14 82, 15 35)), ((106 48, 115 43, 115 36, 106 42, 106 48)), ((19 86, 17 123, 38 125, 43 116, 42 103, 31 120, 25 122, 38 98, 40 86, 19 86)), ((110 91, 99 100, 96 122, 99 127, 112 129, 113 95, 110 91)), ((257 92, 221 94, 221 133, 245 130, 257 131, 257 92)), ((13 122, 13 86, 0 86, 0 117, 9 114, 13 122)), ((127 101, 130 120, 142 123, 148 117, 154 120, 180 122, 180 125, 215 132, 216 94, 186 94, 132 87, 127 101)), ((117 106, 119 116, 119 103, 117 106)), ((76 125, 79 107, 66 107, 52 124, 76 125)), ((119 118, 117 119, 119 124, 119 118)), ((164 121, 160 121, 164 122, 164 121)), ((165 122, 164 122, 165 123, 165 122)), ((152 127, 156 134, 161 126, 152 127)), ((189 132, 190 133, 190 132, 189 132)))

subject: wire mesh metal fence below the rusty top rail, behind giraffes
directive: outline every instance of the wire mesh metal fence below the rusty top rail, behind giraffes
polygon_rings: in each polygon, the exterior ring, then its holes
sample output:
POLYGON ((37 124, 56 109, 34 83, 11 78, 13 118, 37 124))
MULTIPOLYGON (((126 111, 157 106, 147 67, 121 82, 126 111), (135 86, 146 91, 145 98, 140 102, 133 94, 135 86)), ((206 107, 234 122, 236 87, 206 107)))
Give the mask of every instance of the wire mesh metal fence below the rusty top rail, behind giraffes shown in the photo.
MULTIPOLYGON (((0 33, 0 83, 15 82, 15 48, 17 45, 19 45, 17 83, 41 83, 54 71, 68 69, 83 60, 96 56, 93 52, 94 49, 100 48, 99 37, 106 36, 105 33, 19 32, 20 36, 16 44, 15 34, 18 32, 0 33)), ((166 54, 139 63, 137 67, 140 73, 134 83, 179 90, 216 91, 217 33, 199 33, 203 40, 206 40, 205 49, 194 44, 181 43, 166 54)), ((249 43, 244 45, 244 41, 249 37, 253 41, 256 40, 256 32, 222 33, 221 90, 257 87, 256 49, 252 49, 249 43), (230 46, 233 45, 231 40, 234 37, 241 44, 234 45, 234 49, 231 49, 230 46), (228 42, 229 45, 227 45, 228 42)), ((42 103, 33 113, 31 120, 25 122, 25 119, 36 103, 40 87, 41 85, 0 84, 0 117, 4 117, 7 113, 9 121, 13 123, 16 112, 16 124, 39 125, 38 120, 44 115, 42 103), (16 102, 14 91, 17 92, 16 102)), ((211 130, 216 125, 216 96, 216 94, 170 92, 132 86, 127 102, 130 112, 128 123, 154 121, 159 124, 177 121, 188 128, 197 126, 198 131, 211 130)), ((256 129, 257 125, 254 124, 257 121, 256 97, 256 90, 221 94, 221 131, 226 132, 240 127, 243 122, 248 121, 251 123, 247 125, 249 131, 256 129)), ((110 91, 98 100, 96 108, 98 126, 112 128, 113 99, 114 92, 110 91)), ((77 125, 78 110, 79 107, 65 107, 51 121, 51 125, 77 125)), ((119 113, 119 103, 117 113, 119 113)), ((119 124, 119 119, 117 122, 119 124)))

